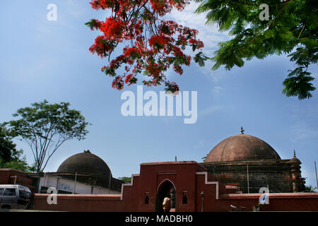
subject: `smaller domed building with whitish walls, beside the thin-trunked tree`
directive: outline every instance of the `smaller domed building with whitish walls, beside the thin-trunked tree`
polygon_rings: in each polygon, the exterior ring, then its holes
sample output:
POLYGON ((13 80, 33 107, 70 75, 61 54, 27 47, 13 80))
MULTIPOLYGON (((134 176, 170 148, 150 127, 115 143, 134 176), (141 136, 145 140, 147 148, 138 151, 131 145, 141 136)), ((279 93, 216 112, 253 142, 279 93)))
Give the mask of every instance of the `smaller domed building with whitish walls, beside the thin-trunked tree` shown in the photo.
POLYGON ((58 194, 120 194, 122 182, 97 155, 89 150, 67 158, 57 172, 29 174, 35 179, 37 193, 47 193, 49 187, 58 194))

